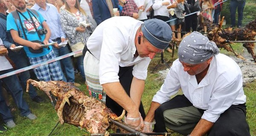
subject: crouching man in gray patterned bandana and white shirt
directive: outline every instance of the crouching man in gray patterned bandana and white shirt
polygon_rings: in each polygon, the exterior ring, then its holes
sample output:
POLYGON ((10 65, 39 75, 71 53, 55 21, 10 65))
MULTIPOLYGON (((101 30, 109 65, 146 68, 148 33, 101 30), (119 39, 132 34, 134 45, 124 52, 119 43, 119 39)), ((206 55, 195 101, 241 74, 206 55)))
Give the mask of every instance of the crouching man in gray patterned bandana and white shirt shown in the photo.
POLYGON ((250 136, 239 65, 196 31, 180 42, 178 56, 152 99, 144 131, 155 119, 154 132, 250 136), (170 99, 180 88, 183 95, 170 99))

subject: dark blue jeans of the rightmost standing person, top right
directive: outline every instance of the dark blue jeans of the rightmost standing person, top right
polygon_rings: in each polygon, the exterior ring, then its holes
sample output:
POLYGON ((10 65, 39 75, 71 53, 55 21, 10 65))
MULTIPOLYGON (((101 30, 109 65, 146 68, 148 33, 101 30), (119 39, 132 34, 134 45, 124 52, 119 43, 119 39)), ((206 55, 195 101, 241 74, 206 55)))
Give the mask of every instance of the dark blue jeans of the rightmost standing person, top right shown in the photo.
POLYGON ((241 3, 239 3, 237 0, 230 1, 231 26, 236 26, 236 8, 238 11, 237 26, 242 25, 244 6, 245 6, 245 0, 241 3))

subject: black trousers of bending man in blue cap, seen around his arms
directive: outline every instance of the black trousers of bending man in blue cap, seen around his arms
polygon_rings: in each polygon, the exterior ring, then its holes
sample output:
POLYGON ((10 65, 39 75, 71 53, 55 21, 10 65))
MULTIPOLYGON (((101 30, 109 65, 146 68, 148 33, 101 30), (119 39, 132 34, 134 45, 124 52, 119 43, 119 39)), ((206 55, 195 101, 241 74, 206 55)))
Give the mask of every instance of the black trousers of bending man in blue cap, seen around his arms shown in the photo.
MULTIPOLYGON (((133 66, 130 66, 130 67, 119 66, 119 73, 118 73, 119 82, 121 83, 122 87, 125 89, 125 92, 128 94, 128 96, 130 96, 131 81, 133 79, 132 71, 133 71, 133 66)), ((113 111, 113 113, 116 113, 117 116, 120 116, 122 114, 123 108, 119 104, 117 104, 113 99, 111 99, 108 95, 106 96, 106 105, 108 108, 110 108, 113 111)), ((146 115, 145 115, 142 102, 140 102, 139 111, 143 119, 145 119, 146 115)))

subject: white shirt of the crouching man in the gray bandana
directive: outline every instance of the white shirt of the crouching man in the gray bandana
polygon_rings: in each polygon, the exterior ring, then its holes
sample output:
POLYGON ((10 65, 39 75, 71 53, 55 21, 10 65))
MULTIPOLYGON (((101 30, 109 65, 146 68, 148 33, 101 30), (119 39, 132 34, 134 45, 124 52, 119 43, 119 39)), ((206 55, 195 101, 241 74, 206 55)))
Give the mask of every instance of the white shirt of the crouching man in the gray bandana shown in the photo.
POLYGON ((195 75, 183 71, 182 64, 176 59, 152 101, 162 104, 181 88, 193 106, 206 110, 202 119, 216 122, 231 105, 246 102, 242 83, 239 65, 224 54, 214 55, 206 76, 199 84, 195 75))

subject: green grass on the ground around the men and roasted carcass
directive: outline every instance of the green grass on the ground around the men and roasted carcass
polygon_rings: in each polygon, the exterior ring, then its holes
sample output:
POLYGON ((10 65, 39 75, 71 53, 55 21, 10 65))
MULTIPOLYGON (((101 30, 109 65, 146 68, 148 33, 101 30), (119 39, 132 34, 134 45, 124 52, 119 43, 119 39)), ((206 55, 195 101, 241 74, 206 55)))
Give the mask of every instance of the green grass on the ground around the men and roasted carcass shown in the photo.
MULTIPOLYGON (((234 50, 242 54, 245 50, 244 48, 237 44, 233 45, 234 50)), ((230 52, 221 50, 224 54, 233 55, 230 52)), ((172 65, 172 62, 177 58, 177 50, 175 51, 175 57, 172 58, 171 54, 167 51, 164 52, 164 59, 169 65, 172 65)), ((153 68, 157 65, 161 59, 160 54, 151 61, 149 68, 148 68, 148 78, 145 81, 145 91, 143 94, 143 105, 145 111, 147 112, 150 104, 151 99, 154 94, 158 91, 158 89, 163 84, 163 80, 160 80, 160 74, 158 71, 166 69, 166 65, 160 64, 157 66, 157 69, 154 73, 151 73, 153 68)), ((76 82, 81 84, 81 91, 87 93, 87 89, 85 85, 82 85, 81 76, 76 76, 76 82)), ((244 86, 244 92, 247 95, 247 122, 250 126, 250 133, 252 136, 256 136, 256 81, 248 83, 244 86)), ((180 93, 180 92, 179 92, 180 93)), ((24 92, 24 98, 29 104, 32 113, 38 116, 38 119, 35 121, 30 121, 24 117, 19 115, 19 111, 16 110, 13 112, 15 116, 15 123, 17 126, 13 129, 9 129, 6 133, 3 133, 3 136, 48 136, 51 130, 55 127, 56 123, 58 122, 58 116, 56 114, 55 109, 52 107, 51 103, 49 102, 49 98, 44 94, 42 91, 38 91, 38 94, 45 99, 43 103, 35 103, 29 98, 29 95, 24 92)), ((78 127, 73 125, 58 125, 51 136, 90 136, 85 130, 80 130, 78 127)), ((177 133, 173 133, 172 136, 181 136, 177 133)))

